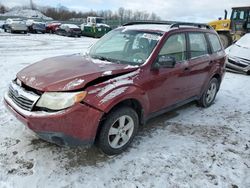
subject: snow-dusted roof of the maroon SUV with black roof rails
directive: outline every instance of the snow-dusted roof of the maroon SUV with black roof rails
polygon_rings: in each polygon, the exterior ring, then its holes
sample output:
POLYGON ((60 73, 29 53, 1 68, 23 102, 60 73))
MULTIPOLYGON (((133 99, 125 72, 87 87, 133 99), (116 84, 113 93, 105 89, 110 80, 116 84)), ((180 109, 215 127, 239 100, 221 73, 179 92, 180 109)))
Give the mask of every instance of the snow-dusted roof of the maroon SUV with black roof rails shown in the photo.
POLYGON ((213 30, 213 28, 203 23, 174 22, 174 21, 136 21, 124 24, 128 29, 152 30, 167 32, 172 28, 198 28, 213 30))

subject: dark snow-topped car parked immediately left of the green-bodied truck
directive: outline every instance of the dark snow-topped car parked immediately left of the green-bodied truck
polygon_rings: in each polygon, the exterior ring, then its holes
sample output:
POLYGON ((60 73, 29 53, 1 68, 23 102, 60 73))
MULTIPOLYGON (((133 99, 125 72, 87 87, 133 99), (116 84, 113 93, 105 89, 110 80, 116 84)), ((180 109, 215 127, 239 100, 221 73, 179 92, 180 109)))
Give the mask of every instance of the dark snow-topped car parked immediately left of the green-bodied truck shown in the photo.
POLYGON ((74 24, 62 24, 55 32, 57 35, 68 36, 68 37, 81 37, 81 29, 74 24))

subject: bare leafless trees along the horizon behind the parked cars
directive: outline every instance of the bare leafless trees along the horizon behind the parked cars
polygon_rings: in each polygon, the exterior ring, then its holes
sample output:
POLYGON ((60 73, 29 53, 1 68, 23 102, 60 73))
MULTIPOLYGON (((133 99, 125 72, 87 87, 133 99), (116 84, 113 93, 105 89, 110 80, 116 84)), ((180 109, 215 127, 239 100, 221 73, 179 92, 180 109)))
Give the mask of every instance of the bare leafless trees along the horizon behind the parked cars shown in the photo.
MULTIPOLYGON (((41 11, 45 16, 51 17, 54 20, 66 21, 72 18, 87 18, 88 16, 98 16, 103 17, 106 20, 119 20, 121 23, 124 21, 136 21, 136 20, 160 20, 160 17, 154 12, 148 13, 147 11, 133 11, 131 9, 125 9, 120 7, 116 11, 112 10, 90 10, 88 12, 76 12, 74 10, 69 10, 65 6, 49 7, 49 6, 37 6, 32 3, 32 6, 23 6, 19 8, 30 8, 41 11)), ((4 5, 0 4, 0 13, 5 13, 10 9, 4 5)))

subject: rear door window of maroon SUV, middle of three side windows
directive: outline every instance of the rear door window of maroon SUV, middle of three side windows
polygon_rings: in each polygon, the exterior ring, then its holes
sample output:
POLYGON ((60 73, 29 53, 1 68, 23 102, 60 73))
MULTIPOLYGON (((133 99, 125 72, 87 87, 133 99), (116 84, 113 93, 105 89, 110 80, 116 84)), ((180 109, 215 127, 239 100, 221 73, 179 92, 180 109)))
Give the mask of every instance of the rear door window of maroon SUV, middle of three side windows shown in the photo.
POLYGON ((208 54, 208 46, 203 33, 189 33, 191 58, 208 54))

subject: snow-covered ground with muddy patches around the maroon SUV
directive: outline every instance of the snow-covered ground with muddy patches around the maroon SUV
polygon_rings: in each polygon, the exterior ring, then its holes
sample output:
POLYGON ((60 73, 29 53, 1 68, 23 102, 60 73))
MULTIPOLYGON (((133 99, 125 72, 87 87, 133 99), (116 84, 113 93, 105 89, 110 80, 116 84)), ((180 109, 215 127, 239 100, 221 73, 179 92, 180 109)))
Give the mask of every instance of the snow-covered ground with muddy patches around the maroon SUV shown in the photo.
MULTIPOLYGON (((0 34, 0 98, 21 68, 79 53, 95 39, 0 34)), ((0 187, 250 187, 250 77, 227 73, 216 103, 151 120, 107 157, 39 140, 0 106, 0 187)))

